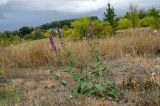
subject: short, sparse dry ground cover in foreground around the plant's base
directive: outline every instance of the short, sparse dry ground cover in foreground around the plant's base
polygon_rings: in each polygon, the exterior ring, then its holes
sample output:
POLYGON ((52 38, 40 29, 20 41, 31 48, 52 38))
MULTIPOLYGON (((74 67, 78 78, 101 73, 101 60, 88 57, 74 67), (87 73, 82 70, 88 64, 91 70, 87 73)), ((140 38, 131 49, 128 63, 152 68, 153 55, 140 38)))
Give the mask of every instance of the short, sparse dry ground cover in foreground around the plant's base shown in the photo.
MULTIPOLYGON (((153 71, 159 78, 160 58, 124 57, 106 59, 106 63, 109 79, 115 80, 123 92, 123 96, 119 100, 73 97, 68 89, 53 80, 50 70, 46 67, 12 68, 9 70, 8 77, 14 86, 20 88, 21 100, 11 106, 159 106, 159 93, 153 96, 152 93, 155 92, 149 90, 148 95, 144 92, 151 89, 146 86, 153 80, 153 71)), ((55 70, 60 77, 70 81, 70 76, 60 67, 52 67, 52 70, 55 70)), ((156 90, 159 92, 160 89, 157 86, 156 90)))

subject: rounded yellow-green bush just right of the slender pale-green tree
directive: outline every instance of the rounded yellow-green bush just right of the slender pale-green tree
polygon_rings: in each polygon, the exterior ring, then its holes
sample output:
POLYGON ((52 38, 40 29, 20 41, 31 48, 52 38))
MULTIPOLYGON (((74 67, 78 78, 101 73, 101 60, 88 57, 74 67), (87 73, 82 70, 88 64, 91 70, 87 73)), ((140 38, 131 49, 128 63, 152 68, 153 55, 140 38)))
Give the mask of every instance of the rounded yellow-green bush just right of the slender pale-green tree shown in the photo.
POLYGON ((151 26, 152 23, 153 23, 153 20, 154 20, 154 17, 153 17, 153 16, 145 17, 145 18, 143 18, 143 19, 141 19, 141 20, 139 21, 139 25, 140 25, 141 27, 151 26))

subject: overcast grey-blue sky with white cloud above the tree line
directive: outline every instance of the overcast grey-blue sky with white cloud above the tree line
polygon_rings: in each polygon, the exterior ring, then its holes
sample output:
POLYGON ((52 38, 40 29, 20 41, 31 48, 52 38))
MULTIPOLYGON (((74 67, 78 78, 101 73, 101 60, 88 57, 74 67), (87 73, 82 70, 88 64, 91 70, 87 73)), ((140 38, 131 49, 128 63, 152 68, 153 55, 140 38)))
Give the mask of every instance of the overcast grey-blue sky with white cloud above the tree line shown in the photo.
POLYGON ((160 8, 160 0, 0 0, 0 31, 80 16, 102 18, 107 2, 118 15, 123 15, 130 3, 139 9, 160 8))

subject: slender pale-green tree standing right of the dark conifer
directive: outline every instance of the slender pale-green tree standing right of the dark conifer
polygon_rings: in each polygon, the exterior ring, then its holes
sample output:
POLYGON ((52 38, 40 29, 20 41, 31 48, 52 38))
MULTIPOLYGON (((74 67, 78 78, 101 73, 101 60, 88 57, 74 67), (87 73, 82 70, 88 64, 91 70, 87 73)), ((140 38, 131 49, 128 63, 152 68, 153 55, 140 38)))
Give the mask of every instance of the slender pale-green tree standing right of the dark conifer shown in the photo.
POLYGON ((138 25, 138 20, 139 20, 138 10, 137 10, 137 6, 136 5, 130 4, 127 17, 131 21, 132 27, 136 28, 137 25, 138 25))

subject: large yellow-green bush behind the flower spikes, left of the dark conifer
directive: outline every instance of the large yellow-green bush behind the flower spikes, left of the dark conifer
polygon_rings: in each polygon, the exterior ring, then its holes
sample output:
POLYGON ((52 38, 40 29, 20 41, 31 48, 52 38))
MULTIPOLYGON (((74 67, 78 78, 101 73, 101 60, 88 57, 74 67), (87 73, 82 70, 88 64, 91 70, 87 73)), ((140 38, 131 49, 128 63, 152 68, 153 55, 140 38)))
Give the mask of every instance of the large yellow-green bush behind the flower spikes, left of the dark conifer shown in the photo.
POLYGON ((62 29, 64 37, 78 40, 82 39, 85 35, 89 38, 93 35, 100 38, 113 34, 113 27, 111 27, 108 22, 102 22, 96 19, 91 20, 91 23, 90 20, 89 17, 82 17, 79 20, 72 22, 72 28, 62 29))

